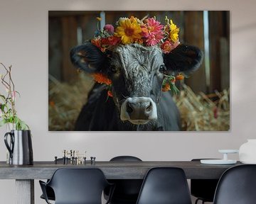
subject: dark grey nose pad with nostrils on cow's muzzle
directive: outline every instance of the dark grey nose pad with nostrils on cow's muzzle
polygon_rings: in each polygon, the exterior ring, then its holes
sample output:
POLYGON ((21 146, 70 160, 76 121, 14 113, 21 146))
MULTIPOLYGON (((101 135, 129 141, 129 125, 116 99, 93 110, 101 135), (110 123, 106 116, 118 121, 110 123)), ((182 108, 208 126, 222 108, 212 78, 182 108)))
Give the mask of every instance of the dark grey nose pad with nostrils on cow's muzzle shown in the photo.
POLYGON ((153 104, 147 98, 128 98, 126 111, 131 120, 149 120, 153 104))

